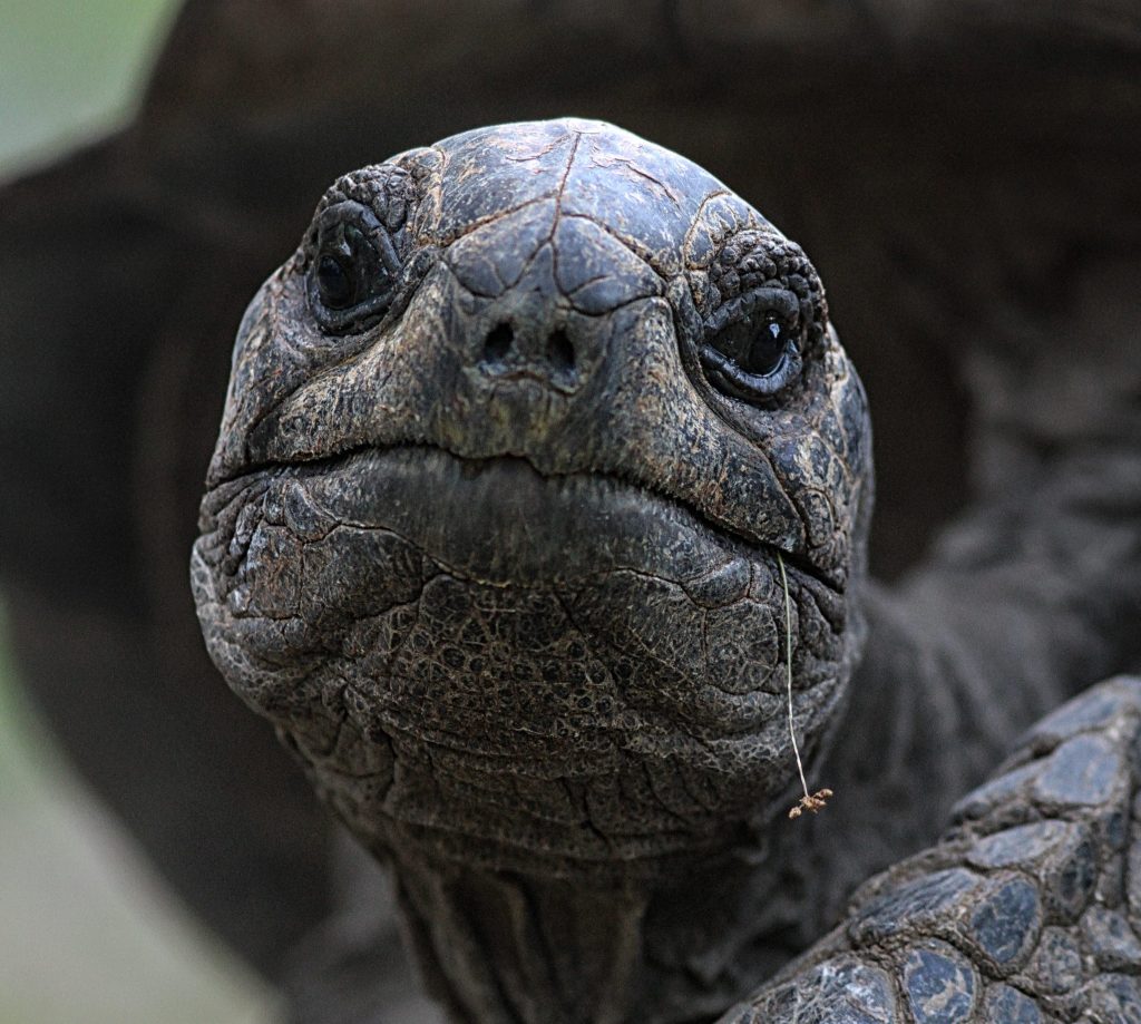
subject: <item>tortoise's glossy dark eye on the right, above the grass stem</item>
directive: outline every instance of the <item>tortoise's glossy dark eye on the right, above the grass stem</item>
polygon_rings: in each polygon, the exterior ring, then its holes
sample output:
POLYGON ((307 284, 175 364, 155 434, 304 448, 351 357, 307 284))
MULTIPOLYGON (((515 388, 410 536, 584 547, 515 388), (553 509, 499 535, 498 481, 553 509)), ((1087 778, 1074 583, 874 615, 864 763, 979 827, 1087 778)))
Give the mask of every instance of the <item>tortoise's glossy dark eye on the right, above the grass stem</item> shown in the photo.
POLYGON ((746 402, 768 398, 800 373, 800 328, 784 292, 754 293, 718 311, 701 346, 705 377, 746 402))

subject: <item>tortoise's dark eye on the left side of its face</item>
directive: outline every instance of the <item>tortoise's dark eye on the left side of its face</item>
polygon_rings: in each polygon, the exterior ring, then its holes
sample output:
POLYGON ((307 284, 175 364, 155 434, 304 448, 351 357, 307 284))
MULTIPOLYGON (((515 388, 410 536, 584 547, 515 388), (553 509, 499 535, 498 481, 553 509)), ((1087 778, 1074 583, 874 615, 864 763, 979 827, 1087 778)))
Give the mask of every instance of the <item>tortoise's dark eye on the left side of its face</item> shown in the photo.
POLYGON ((309 308, 325 333, 362 331, 385 315, 400 260, 372 210, 355 202, 327 208, 313 245, 309 308))

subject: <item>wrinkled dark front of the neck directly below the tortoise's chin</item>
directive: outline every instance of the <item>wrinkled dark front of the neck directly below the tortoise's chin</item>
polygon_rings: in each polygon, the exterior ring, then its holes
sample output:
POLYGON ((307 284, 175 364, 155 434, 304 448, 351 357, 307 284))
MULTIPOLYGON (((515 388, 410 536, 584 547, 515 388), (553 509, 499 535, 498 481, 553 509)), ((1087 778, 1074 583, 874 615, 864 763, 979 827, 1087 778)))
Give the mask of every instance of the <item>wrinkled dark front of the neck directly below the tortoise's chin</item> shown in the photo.
POLYGON ((803 942, 799 887, 763 853, 606 884, 393 863, 427 981, 472 1024, 712 1021, 803 942))

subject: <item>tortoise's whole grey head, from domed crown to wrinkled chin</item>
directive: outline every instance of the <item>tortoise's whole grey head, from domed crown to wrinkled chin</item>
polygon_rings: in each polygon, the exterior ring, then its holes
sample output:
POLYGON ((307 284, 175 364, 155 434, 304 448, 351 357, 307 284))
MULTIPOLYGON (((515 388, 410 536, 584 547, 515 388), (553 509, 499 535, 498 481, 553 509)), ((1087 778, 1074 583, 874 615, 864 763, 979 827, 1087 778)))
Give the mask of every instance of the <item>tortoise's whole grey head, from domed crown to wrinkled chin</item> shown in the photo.
POLYGON ((374 848, 572 872, 721 842, 855 654, 859 381, 801 250, 606 124, 339 180, 237 338, 210 651, 374 848))

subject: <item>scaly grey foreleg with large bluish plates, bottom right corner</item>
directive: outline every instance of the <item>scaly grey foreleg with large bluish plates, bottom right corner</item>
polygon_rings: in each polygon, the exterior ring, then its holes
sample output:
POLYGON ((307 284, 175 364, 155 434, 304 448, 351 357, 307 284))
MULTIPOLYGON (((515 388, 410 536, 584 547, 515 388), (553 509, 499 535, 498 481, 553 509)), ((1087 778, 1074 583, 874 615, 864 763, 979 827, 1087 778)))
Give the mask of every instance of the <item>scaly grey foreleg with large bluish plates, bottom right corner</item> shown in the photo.
POLYGON ((1059 708, 722 1024, 1141 1019, 1139 744, 1136 677, 1059 708))

